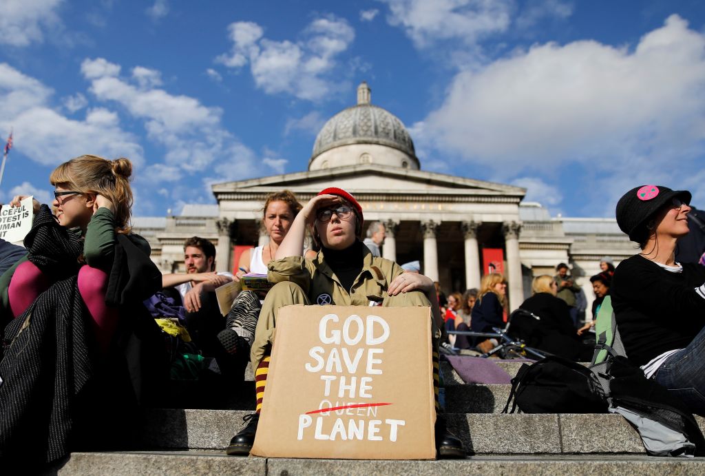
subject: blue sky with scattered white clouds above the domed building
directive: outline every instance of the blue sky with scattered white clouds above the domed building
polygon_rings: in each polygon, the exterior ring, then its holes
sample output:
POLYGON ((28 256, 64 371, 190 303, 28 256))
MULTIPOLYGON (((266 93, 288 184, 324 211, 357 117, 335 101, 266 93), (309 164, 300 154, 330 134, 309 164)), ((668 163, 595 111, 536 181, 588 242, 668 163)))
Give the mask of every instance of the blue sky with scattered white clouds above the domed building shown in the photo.
POLYGON ((135 162, 135 214, 306 169, 324 122, 372 102, 422 169, 613 216, 632 186, 705 207, 699 0, 4 0, 0 199, 49 199, 80 154, 135 162))

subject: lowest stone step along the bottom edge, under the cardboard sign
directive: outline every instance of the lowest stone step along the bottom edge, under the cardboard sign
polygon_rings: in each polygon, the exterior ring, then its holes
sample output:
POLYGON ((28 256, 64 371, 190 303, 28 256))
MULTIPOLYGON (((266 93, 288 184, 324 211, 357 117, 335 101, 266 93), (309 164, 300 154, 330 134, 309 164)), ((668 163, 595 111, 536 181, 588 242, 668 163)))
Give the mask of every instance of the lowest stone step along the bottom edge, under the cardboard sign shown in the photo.
POLYGON ((697 475, 705 458, 473 456, 465 460, 242 458, 204 451, 73 453, 53 475, 697 475))

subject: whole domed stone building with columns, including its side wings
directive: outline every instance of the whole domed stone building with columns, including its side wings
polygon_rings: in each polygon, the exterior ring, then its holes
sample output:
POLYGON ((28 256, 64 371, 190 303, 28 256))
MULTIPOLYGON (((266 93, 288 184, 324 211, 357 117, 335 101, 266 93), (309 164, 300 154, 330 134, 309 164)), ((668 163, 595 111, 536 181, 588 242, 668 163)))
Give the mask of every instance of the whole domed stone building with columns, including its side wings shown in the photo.
POLYGON ((551 218, 540 204, 522 203, 523 188, 423 171, 403 122, 372 104, 364 82, 357 104, 321 128, 307 171, 212 185, 218 205, 187 206, 165 223, 135 219, 135 231, 147 235, 165 272, 183 270, 183 241, 193 235, 216 243, 217 268, 233 271, 240 252, 269 239, 260 220, 267 194, 286 188, 306 202, 329 186, 357 197, 365 226, 386 226, 384 257, 418 260, 445 291, 479 288, 483 274, 503 271, 511 310, 530 295, 533 276, 553 275, 558 262, 572 265, 591 301, 591 283, 580 276, 596 274, 603 255, 617 264, 633 254, 613 219, 551 218))

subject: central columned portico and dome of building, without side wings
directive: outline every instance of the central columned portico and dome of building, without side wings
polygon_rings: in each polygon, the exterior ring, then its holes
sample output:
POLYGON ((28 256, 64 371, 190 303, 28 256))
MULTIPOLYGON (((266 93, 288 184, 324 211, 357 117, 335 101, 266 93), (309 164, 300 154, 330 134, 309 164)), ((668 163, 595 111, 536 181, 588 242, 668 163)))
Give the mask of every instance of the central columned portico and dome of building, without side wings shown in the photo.
POLYGON ((385 224, 384 257, 419 260, 422 272, 443 288, 464 289, 479 287, 482 253, 494 250, 494 266, 502 269, 506 262, 513 300, 517 305, 523 300, 518 233, 525 190, 422 171, 403 122, 372 104, 367 83, 357 87, 357 104, 321 128, 307 171, 220 183, 213 193, 226 225, 223 233, 233 231, 230 238, 238 247, 266 240, 257 236, 257 219, 267 193, 288 188, 305 201, 329 186, 353 193, 367 224, 385 224))

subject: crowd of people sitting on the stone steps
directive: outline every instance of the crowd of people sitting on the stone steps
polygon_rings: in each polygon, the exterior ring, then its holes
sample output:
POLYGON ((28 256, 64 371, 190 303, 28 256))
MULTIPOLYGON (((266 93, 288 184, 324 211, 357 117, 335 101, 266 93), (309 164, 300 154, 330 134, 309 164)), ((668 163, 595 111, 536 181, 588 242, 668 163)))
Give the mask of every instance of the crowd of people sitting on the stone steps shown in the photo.
POLYGON ((705 414, 705 267, 676 260, 689 231, 687 191, 645 185, 622 197, 617 222, 640 252, 616 268, 603 257, 589 278, 594 300, 583 318, 587 300, 565 263, 534 278, 521 312, 508 309, 498 272, 485 274, 479 289, 446 295, 419 262, 382 257, 384 224, 365 227, 360 203, 336 187, 305 204, 288 190, 269 195, 262 207, 269 240, 243 252, 232 273, 216 272, 216 248, 195 236, 183 245, 185 272, 161 274, 147 240, 130 228, 131 175, 128 159, 85 155, 61 164, 49 177, 51 207, 35 200, 25 247, 0 240, 0 458, 40 453, 50 462, 78 448, 124 446, 132 441, 125 432, 138 427, 130 428, 130 415, 165 382, 208 374, 242 382, 250 362, 255 413, 226 449, 247 455, 266 398, 278 310, 291 304, 430 307, 439 457, 465 457, 439 403, 441 343, 489 355, 501 329, 547 355, 589 361, 608 296, 630 360, 705 414), (253 273, 266 275, 271 289, 241 290, 253 273), (224 313, 216 288, 228 283, 236 292, 224 313), (108 403, 118 410, 97 410, 108 403))

